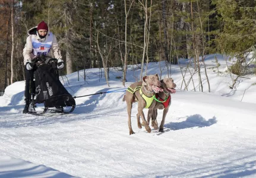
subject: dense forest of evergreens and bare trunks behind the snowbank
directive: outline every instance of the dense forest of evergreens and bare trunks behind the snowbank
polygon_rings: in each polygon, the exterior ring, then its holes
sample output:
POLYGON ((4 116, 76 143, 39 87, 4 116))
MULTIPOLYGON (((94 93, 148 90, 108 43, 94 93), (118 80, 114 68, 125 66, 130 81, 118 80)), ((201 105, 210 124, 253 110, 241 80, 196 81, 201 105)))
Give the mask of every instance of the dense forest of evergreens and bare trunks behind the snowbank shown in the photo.
POLYGON ((27 30, 42 20, 61 49, 60 75, 83 70, 78 81, 86 81, 86 69, 99 68, 108 82, 113 68, 122 70, 125 85, 127 65, 141 71, 139 81, 147 63, 161 61, 171 75, 180 58, 207 78, 200 68, 213 53, 237 59, 229 68, 236 77, 256 74, 255 0, 0 0, 0 92, 24 80, 27 30))

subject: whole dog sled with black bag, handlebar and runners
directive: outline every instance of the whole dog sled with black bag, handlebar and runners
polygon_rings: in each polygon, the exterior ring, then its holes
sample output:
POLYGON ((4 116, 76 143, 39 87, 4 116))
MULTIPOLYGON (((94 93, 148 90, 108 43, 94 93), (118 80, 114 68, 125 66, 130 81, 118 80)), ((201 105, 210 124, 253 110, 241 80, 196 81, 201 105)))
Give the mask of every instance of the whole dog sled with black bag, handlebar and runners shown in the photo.
POLYGON ((57 69, 57 59, 39 56, 33 59, 37 64, 37 70, 34 72, 34 84, 31 91, 32 100, 30 102, 29 113, 32 115, 43 115, 51 107, 56 112, 71 113, 75 109, 75 100, 68 93, 66 88, 59 81, 57 69), (34 107, 37 103, 44 103, 45 109, 42 113, 37 113, 34 107), (64 107, 71 107, 65 111, 64 107))

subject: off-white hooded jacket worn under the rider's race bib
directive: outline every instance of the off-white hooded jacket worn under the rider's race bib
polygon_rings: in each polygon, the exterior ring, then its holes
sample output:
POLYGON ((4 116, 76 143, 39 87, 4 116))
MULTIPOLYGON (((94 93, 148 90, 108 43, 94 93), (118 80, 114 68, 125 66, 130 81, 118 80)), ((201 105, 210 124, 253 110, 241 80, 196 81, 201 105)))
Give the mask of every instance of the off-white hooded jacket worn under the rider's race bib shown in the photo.
POLYGON ((61 51, 59 50, 58 42, 54 34, 52 34, 50 31, 46 34, 46 37, 43 39, 40 39, 40 37, 37 35, 36 29, 37 27, 33 27, 30 30, 27 31, 27 34, 29 36, 26 40, 26 45, 23 49, 23 57, 24 57, 24 65, 26 65, 27 62, 31 62, 31 59, 36 58, 36 56, 33 54, 33 46, 32 46, 32 40, 31 38, 35 38, 39 42, 44 42, 47 40, 47 38, 52 35, 52 47, 50 48, 49 53, 46 56, 52 57, 52 53, 54 58, 58 59, 58 62, 63 62, 61 51))

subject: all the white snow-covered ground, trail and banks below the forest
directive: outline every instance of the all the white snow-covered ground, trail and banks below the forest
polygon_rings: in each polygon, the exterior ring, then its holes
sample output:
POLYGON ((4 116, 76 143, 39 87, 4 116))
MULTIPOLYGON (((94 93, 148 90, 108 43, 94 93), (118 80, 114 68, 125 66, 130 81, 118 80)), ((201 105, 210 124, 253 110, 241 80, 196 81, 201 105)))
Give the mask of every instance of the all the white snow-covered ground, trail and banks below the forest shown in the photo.
MULTIPOLYGON (((124 92, 76 98, 77 107, 69 115, 23 115, 24 81, 15 82, 0 97, 0 177, 256 177, 256 77, 238 78, 230 89, 225 56, 216 56, 219 74, 214 55, 206 58, 211 93, 204 69, 204 92, 198 90, 197 74, 197 91, 192 81, 184 91, 179 65, 172 65, 177 92, 163 133, 138 129, 135 103, 135 134, 129 135, 124 92)), ((180 62, 185 74, 185 61, 180 62)), ((162 78, 167 77, 165 63, 161 65, 162 78)), ((140 75, 131 69, 125 87, 140 75)), ((72 96, 125 88, 118 79, 122 71, 110 69, 110 87, 99 79, 99 69, 86 72, 86 82, 83 71, 80 81, 77 72, 68 80, 61 77, 72 96)), ((156 73, 159 63, 150 63, 148 74, 156 73)), ((189 71, 186 78, 187 83, 189 71)), ((161 119, 162 110, 159 123, 161 119)))

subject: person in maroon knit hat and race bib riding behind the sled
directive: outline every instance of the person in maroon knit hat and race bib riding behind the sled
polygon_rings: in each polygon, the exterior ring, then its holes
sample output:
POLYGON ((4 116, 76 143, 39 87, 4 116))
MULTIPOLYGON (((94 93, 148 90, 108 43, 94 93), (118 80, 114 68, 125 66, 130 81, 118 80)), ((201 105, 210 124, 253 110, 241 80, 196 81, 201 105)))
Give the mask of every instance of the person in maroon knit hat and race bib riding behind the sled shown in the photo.
MULTIPOLYGON (((58 59, 58 69, 64 68, 64 62, 62 61, 61 52, 59 50, 58 42, 53 33, 48 30, 48 25, 45 21, 40 22, 37 27, 31 28, 27 31, 29 37, 27 37, 26 45, 23 49, 24 65, 25 65, 25 101, 23 113, 29 112, 30 104, 30 81, 33 81, 34 71, 36 71, 36 65, 31 62, 31 59, 37 56, 51 56, 51 51, 56 59, 58 59)), ((31 92, 34 93, 35 89, 31 84, 31 92)))

